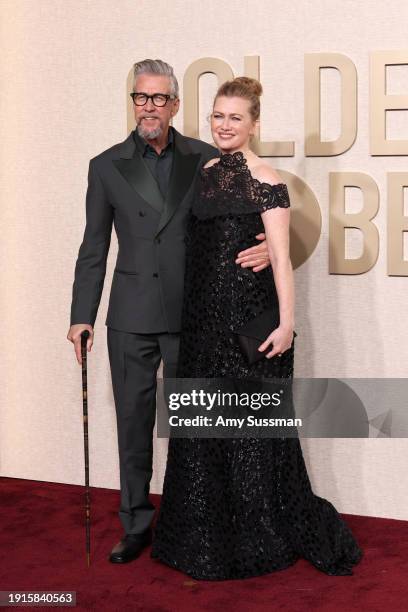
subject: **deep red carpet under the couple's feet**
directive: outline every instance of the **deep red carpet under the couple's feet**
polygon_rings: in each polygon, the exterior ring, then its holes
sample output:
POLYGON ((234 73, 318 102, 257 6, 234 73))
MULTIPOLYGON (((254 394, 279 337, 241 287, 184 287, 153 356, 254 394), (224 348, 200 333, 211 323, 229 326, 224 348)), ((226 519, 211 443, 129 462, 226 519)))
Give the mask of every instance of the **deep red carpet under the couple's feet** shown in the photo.
MULTIPOLYGON (((202 582, 153 561, 149 549, 126 565, 107 561, 122 537, 118 491, 92 489, 88 569, 82 487, 12 478, 0 484, 2 591, 72 590, 76 609, 98 611, 408 609, 406 521, 345 515, 364 551, 353 576, 327 576, 299 559, 259 578, 202 582)), ((158 506, 160 496, 152 500, 158 506)))

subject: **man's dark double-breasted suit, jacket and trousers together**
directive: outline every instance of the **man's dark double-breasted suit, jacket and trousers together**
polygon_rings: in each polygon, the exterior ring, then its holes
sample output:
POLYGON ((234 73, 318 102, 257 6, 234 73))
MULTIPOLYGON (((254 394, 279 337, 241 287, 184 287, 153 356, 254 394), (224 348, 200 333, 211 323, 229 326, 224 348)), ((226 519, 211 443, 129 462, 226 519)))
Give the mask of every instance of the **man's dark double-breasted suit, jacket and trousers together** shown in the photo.
POLYGON ((108 348, 118 425, 119 516, 126 533, 153 517, 152 474, 156 373, 175 374, 184 283, 185 228, 200 167, 218 151, 173 130, 174 157, 163 198, 128 138, 89 164, 86 227, 73 285, 71 325, 94 325, 104 285, 112 223, 119 250, 109 308, 108 348))

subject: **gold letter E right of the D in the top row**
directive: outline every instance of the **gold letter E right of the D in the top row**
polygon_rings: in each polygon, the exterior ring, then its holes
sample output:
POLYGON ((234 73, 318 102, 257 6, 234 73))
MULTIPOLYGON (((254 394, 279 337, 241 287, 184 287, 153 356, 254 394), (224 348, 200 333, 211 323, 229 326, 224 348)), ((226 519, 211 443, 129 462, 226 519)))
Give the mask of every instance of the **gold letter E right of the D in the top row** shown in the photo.
POLYGON ((387 111, 408 110, 408 94, 387 94, 387 66, 408 65, 408 51, 373 51, 370 54, 370 153, 407 155, 408 140, 387 140, 387 111))

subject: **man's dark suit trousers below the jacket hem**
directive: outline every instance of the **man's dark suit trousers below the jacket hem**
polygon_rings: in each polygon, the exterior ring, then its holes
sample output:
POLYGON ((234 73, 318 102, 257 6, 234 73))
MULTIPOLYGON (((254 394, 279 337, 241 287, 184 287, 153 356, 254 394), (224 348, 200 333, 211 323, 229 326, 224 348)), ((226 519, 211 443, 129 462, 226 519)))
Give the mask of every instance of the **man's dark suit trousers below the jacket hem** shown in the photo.
POLYGON ((126 533, 149 528, 155 508, 149 501, 156 419, 156 377, 176 375, 179 334, 134 334, 107 330, 120 465, 119 518, 126 533))

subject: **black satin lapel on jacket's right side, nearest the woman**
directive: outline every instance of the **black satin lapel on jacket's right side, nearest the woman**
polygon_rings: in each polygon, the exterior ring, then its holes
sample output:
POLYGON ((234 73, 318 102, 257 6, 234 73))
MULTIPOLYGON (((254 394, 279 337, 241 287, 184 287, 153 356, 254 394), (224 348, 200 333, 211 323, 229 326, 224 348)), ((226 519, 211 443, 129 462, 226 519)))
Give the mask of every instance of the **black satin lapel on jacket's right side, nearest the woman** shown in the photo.
POLYGON ((170 185, 157 228, 157 234, 167 225, 178 206, 184 200, 187 191, 191 187, 200 158, 200 153, 191 153, 182 146, 180 135, 176 132, 170 185))

